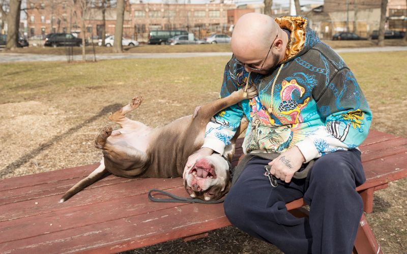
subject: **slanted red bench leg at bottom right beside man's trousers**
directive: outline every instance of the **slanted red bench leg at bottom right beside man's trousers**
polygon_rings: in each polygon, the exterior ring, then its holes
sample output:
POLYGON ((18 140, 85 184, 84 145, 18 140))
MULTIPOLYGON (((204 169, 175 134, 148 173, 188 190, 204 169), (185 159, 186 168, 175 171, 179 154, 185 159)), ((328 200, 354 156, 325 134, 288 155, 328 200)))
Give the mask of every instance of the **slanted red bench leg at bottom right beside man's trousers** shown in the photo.
POLYGON ((378 254, 382 253, 376 238, 367 223, 365 214, 362 213, 362 218, 359 222, 358 233, 356 234, 354 253, 358 254, 378 254))

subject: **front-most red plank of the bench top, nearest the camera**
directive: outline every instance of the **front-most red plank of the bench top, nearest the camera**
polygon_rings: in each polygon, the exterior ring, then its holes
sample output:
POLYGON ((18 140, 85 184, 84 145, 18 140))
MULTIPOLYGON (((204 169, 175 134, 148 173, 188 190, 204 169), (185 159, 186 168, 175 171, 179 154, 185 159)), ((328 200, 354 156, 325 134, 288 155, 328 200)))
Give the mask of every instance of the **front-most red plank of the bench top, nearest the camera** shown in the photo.
MULTIPOLYGON (((148 202, 147 197, 144 202, 148 202)), ((119 252, 229 226, 222 204, 187 204, 0 244, 0 252, 119 252), (205 212, 202 212, 205 211, 205 212)))

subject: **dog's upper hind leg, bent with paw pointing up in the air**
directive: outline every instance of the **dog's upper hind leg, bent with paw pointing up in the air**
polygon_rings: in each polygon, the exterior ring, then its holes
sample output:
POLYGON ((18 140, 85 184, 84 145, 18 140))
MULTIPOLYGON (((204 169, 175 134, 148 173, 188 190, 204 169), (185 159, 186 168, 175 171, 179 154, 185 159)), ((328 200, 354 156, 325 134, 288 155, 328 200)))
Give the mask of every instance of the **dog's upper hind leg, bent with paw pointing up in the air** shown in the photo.
POLYGON ((129 118, 126 117, 126 114, 138 108, 142 101, 143 98, 141 96, 133 97, 129 104, 109 115, 109 119, 115 123, 120 124, 122 128, 146 127, 144 123, 135 120, 130 120, 129 118))

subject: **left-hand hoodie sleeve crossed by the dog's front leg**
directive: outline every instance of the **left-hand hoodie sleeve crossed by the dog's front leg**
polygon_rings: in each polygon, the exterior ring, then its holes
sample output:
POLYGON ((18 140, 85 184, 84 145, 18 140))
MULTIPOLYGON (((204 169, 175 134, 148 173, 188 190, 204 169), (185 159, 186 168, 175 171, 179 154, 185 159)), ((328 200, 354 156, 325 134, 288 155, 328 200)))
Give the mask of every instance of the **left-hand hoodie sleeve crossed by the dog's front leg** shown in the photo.
MULTIPOLYGON (((221 98, 227 97, 231 92, 241 88, 236 78, 236 63, 232 59, 225 67, 221 98)), ((238 104, 218 112, 207 125, 202 147, 208 147, 223 154, 225 147, 230 144, 230 139, 235 135, 243 115, 243 109, 238 104)))

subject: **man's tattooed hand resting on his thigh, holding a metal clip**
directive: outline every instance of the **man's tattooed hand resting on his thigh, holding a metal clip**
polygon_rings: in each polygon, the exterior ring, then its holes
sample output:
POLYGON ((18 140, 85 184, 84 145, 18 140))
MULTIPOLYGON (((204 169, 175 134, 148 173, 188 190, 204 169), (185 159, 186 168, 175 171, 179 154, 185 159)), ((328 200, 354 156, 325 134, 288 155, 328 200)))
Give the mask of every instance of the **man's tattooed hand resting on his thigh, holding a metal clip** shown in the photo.
POLYGON ((271 166, 270 173, 276 178, 288 183, 304 162, 305 158, 300 149, 297 146, 294 146, 281 153, 269 163, 271 166))

